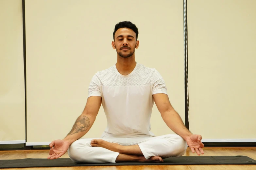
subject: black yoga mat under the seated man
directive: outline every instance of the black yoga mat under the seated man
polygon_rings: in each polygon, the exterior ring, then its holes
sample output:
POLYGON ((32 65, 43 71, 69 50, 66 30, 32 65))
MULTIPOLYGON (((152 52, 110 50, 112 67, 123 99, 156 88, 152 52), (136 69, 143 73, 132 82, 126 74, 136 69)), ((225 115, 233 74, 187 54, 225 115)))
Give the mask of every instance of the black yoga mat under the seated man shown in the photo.
POLYGON ((0 160, 0 168, 58 167, 58 166, 108 166, 108 165, 195 165, 195 164, 256 164, 247 156, 181 156, 170 157, 163 163, 74 163, 69 158, 0 160))

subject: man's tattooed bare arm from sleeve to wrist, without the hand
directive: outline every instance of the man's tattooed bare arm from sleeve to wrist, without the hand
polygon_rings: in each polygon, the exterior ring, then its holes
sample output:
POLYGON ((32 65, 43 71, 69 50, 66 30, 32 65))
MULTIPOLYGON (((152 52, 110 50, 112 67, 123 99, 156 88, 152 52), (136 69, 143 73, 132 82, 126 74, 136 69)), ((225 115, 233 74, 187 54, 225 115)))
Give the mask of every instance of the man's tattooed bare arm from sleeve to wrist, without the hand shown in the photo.
POLYGON ((89 97, 83 113, 77 118, 72 130, 63 140, 68 141, 71 145, 77 139, 85 135, 91 129, 96 119, 101 102, 100 96, 89 97))

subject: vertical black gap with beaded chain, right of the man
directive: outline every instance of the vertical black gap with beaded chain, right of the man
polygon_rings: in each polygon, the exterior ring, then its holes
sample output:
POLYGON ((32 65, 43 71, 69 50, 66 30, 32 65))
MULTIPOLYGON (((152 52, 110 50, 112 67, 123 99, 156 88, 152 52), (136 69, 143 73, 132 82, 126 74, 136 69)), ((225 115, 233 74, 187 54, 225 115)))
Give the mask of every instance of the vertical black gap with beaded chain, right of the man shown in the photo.
POLYGON ((188 44, 187 44, 187 0, 183 0, 184 28, 184 74, 185 74, 185 125, 189 130, 189 101, 188 101, 188 44))

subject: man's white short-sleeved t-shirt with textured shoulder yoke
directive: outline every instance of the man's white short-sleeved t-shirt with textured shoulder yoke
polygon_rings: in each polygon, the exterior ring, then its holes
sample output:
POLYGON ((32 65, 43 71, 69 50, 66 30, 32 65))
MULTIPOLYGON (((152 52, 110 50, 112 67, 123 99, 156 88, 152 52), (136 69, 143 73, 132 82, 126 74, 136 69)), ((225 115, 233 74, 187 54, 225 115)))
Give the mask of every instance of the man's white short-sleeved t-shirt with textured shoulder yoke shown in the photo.
POLYGON ((136 64, 124 76, 116 66, 97 72, 89 85, 89 96, 101 96, 107 128, 101 137, 155 136, 150 132, 153 94, 167 94, 165 82, 155 68, 136 64))

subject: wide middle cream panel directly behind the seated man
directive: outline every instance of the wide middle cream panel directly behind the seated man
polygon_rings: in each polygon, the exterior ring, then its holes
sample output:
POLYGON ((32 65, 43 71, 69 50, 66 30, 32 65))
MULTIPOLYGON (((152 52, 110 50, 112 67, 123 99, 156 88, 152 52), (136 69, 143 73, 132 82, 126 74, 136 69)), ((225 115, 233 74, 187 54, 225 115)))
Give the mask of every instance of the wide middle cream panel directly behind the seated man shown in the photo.
MULTIPOLYGON (((183 121, 183 1, 26 0, 27 142, 62 139, 81 114, 97 71, 116 63, 114 26, 131 21, 139 29, 138 63, 156 68, 183 121), (131 6, 131 4, 133 4, 131 6), (99 50, 101 49, 101 50, 99 50)), ((99 137, 107 125, 103 108, 84 137, 99 137)), ((156 106, 156 135, 173 133, 156 106)))

